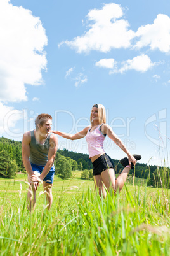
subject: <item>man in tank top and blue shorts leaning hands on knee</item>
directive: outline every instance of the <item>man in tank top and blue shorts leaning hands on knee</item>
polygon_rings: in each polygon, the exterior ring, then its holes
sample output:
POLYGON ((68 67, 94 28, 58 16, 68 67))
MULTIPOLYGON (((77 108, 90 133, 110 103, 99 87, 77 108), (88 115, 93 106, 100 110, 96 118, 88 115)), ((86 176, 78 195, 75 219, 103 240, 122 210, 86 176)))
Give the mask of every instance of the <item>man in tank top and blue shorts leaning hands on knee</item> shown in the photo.
POLYGON ((51 208, 53 201, 52 185, 55 174, 53 164, 58 145, 58 139, 50 133, 52 125, 51 115, 38 115, 35 124, 36 130, 25 132, 22 140, 23 165, 33 190, 33 199, 30 189, 27 194, 30 211, 34 210, 36 205, 36 191, 39 182, 42 180, 49 208, 51 208))

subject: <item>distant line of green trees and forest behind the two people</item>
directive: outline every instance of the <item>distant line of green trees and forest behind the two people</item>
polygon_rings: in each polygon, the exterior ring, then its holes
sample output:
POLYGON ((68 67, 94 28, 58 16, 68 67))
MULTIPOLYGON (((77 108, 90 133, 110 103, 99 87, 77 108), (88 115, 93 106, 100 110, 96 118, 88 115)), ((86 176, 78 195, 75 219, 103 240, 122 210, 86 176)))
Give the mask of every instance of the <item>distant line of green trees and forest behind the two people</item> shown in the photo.
MULTIPOLYGON (((115 164, 115 174, 121 173, 123 167, 119 160, 113 159, 115 164)), ((55 174, 61 178, 70 178, 72 171, 83 171, 81 178, 93 179, 93 165, 88 154, 76 153, 67 149, 58 150, 55 158, 55 174)), ((22 143, 0 137, 0 176, 4 178, 14 178, 17 172, 25 173, 22 162, 22 143)), ((137 163, 135 169, 131 169, 129 174, 137 178, 147 179, 148 186, 169 188, 169 167, 147 166, 147 164, 137 163)))

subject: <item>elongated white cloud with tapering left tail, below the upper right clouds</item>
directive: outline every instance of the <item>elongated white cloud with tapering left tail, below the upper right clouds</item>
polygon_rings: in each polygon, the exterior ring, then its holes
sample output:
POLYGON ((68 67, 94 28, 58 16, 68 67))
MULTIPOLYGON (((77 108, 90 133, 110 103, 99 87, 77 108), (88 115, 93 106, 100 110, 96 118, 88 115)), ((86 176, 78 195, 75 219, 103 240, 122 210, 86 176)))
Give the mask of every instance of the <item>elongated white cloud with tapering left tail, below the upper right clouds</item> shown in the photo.
POLYGON ((140 56, 134 57, 133 59, 129 59, 122 62, 121 68, 110 71, 110 74, 124 73, 125 71, 131 70, 131 69, 138 72, 146 72, 148 71, 148 69, 150 69, 154 65, 155 63, 153 63, 147 55, 142 54, 140 56))

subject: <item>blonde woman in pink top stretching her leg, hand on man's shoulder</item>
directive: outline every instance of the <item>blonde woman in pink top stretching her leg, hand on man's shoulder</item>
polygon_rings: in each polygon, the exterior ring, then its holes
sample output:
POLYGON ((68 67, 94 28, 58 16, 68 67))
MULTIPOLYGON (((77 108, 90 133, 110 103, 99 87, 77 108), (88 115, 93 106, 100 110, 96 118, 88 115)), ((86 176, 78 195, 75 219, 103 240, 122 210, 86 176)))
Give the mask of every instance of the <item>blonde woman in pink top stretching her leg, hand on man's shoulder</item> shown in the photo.
POLYGON ((105 187, 107 190, 110 189, 110 185, 113 190, 121 191, 124 186, 124 182, 128 176, 129 170, 133 167, 133 164, 136 164, 136 160, 140 160, 140 155, 131 155, 126 146, 122 143, 115 133, 112 131, 112 128, 109 127, 106 122, 105 108, 101 104, 95 104, 91 110, 91 127, 84 128, 81 132, 76 134, 66 134, 64 132, 52 131, 55 134, 62 136, 63 138, 75 140, 81 139, 86 136, 86 141, 88 143, 89 158, 93 163, 93 175, 95 181, 95 188, 99 189, 99 194, 101 192, 103 197, 106 196, 105 187), (105 136, 108 135, 115 144, 117 144, 127 155, 128 158, 121 160, 122 165, 125 167, 122 173, 115 178, 114 172, 114 162, 112 159, 105 153, 103 148, 103 142, 105 136))

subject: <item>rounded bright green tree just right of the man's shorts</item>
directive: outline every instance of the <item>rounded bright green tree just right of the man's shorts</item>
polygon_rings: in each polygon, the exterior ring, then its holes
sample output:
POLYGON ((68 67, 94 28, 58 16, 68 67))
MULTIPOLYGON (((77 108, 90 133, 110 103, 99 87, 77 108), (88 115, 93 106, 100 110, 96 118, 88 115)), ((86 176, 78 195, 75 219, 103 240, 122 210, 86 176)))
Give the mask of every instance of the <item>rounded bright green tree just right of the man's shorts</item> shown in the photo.
POLYGON ((61 155, 57 162, 56 171, 60 174, 62 179, 68 179, 72 176, 72 166, 70 165, 69 160, 63 155, 61 155))

